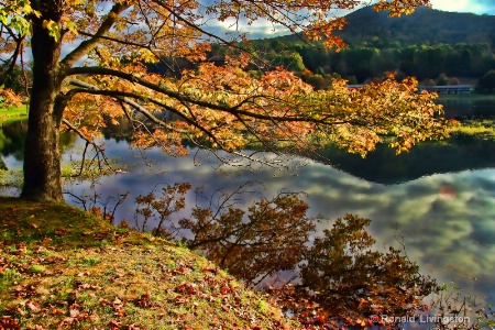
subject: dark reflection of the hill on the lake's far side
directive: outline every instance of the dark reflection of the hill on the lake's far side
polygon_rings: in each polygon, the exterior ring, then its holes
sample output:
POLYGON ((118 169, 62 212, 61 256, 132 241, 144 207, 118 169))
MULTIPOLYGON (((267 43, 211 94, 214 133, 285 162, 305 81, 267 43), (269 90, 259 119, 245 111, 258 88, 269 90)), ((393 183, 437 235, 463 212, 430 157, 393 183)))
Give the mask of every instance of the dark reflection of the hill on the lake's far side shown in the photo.
POLYGON ((369 182, 395 185, 438 173, 495 167, 494 147, 494 141, 460 135, 424 142, 399 155, 384 145, 366 158, 329 148, 322 162, 369 182))

